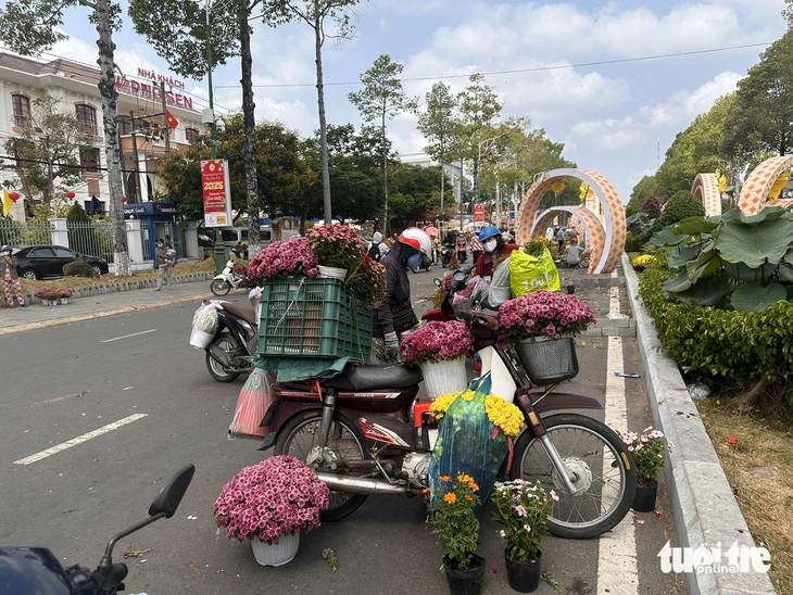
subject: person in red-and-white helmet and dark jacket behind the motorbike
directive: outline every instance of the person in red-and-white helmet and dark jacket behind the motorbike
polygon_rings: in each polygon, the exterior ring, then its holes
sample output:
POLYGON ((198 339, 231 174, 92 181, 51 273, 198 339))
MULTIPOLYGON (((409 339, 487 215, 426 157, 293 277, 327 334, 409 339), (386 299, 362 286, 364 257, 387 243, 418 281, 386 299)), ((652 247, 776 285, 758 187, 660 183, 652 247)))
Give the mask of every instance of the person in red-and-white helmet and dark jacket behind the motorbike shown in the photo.
POLYGON ((411 303, 407 270, 428 261, 431 250, 429 236, 417 227, 408 227, 380 261, 386 267, 386 294, 375 312, 373 351, 383 364, 396 360, 401 336, 418 324, 411 303))

